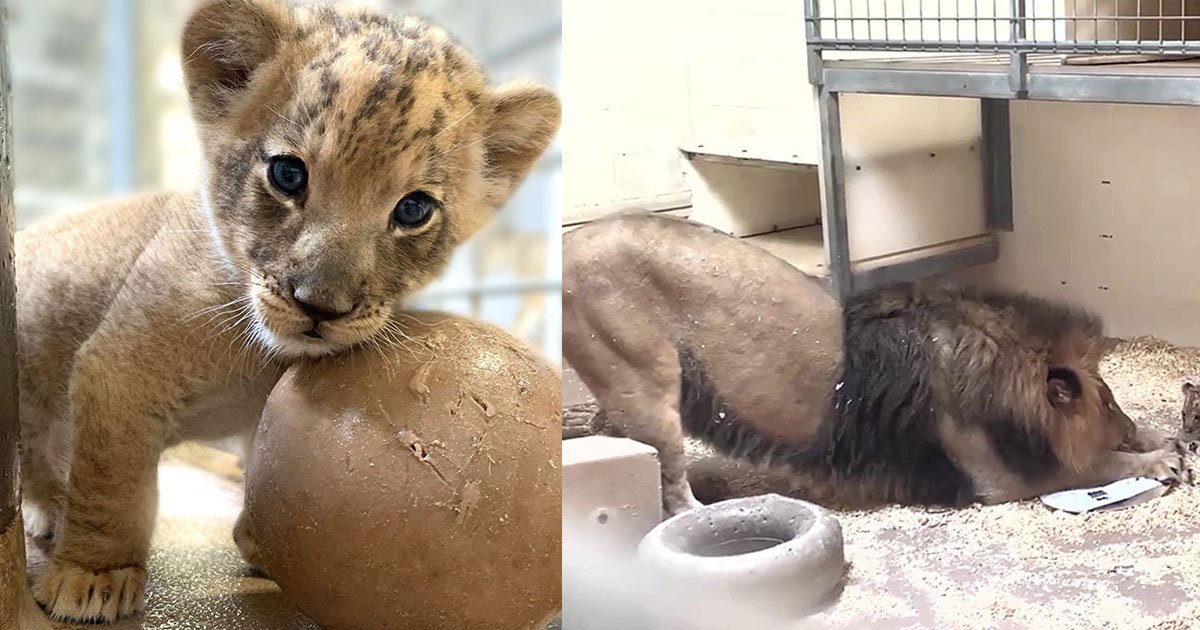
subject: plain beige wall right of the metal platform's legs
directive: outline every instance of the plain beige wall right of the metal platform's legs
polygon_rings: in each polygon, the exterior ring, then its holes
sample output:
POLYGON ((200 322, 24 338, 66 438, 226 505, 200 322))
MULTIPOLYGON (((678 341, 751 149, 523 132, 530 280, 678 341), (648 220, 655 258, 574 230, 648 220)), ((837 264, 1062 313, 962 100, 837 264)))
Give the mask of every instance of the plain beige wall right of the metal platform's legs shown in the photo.
POLYGON ((1015 232, 966 277, 1200 346, 1200 108, 1016 102, 1015 232))

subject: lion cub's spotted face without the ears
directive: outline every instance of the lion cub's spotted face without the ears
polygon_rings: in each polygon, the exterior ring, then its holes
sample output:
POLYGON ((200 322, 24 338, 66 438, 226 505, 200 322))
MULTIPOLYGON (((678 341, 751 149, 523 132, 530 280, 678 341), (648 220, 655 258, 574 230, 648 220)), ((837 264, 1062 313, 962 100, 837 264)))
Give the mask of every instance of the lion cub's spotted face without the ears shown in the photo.
POLYGON ((296 89, 281 115, 222 145, 223 168, 209 174, 224 253, 247 276, 262 340, 286 354, 379 334, 391 305, 432 281, 463 228, 494 210, 479 85, 431 61, 403 72, 336 52, 348 47, 288 68, 296 89))

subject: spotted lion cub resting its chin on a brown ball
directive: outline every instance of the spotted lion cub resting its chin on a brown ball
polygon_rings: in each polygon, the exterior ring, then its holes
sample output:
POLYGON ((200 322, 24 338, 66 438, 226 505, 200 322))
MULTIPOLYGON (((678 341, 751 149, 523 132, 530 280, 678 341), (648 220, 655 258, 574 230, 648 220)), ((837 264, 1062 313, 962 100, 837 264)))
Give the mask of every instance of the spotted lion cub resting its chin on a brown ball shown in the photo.
POLYGON ((56 619, 138 610, 163 449, 251 433, 289 362, 390 341, 392 305, 559 125, 551 91, 490 89, 415 18, 208 0, 182 58, 199 190, 17 236, 23 488, 56 619))

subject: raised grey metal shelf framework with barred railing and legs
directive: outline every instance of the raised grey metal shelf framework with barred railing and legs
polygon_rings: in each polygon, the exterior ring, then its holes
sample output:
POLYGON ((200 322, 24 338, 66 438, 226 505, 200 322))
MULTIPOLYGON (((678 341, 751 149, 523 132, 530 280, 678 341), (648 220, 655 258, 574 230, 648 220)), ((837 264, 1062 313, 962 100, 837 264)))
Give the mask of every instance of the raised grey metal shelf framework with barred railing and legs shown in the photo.
MULTIPOLYGON (((836 0, 833 0, 836 2, 836 0)), ((953 0, 952 0, 953 1, 953 0)), ((841 146, 841 116, 839 96, 841 94, 880 94, 911 95, 937 97, 965 97, 980 100, 980 136, 983 145, 983 172, 985 221, 989 232, 1008 232, 1014 229, 1013 220, 1013 179, 1012 179, 1012 130, 1009 102, 1014 100, 1042 100, 1093 103, 1135 103, 1135 104, 1175 104, 1200 106, 1200 65, 1188 72, 1136 72, 1128 68, 1080 68, 1061 62, 1031 64, 1031 55, 1054 53, 1092 53, 1115 55, 1198 55, 1200 42, 1163 41, 1062 41, 1055 35, 1054 41, 1039 41, 1030 37, 1028 26, 1038 18, 1028 14, 1027 2, 1033 0, 1007 0, 1008 16, 1001 17, 998 11, 992 17, 960 17, 958 5, 955 16, 823 16, 822 0, 805 0, 805 35, 808 37, 809 82, 814 85, 817 100, 817 116, 821 126, 821 178, 822 178, 822 224, 824 226, 826 251, 829 262, 830 290, 839 298, 846 298, 858 290, 877 286, 882 281, 917 280, 961 266, 972 266, 995 260, 998 247, 995 244, 983 244, 965 251, 942 252, 898 264, 894 268, 872 268, 857 270, 850 256, 846 226, 845 170, 841 146), (866 20, 868 35, 871 35, 871 20, 889 23, 900 22, 899 40, 846 38, 839 34, 827 37, 822 26, 829 23, 850 22, 852 25, 866 20), (972 22, 977 29, 980 22, 992 22, 998 38, 998 23, 1007 24, 1008 41, 980 41, 941 38, 908 40, 908 23, 918 22, 924 29, 928 22, 943 20, 972 22), (942 61, 947 55, 966 53, 991 53, 992 62, 937 64, 929 59, 826 59, 830 50, 868 50, 878 53, 935 53, 942 61)), ((996 2, 998 5, 998 2, 996 2)), ((996 8, 994 5, 994 10, 996 8)), ((833 5, 836 7, 836 4, 833 5)), ((870 8, 870 7, 869 7, 870 8)), ((941 5, 938 5, 941 10, 941 5)), ((886 7, 884 7, 886 11, 886 7)), ((1140 8, 1139 8, 1140 11, 1140 8)), ((1084 17, 1055 17, 1057 20, 1093 22, 1084 17)), ((1128 19, 1147 19, 1139 12, 1136 18, 1109 18, 1114 23, 1128 19)), ((1158 17, 1163 20, 1163 17, 1158 17)), ((1200 17, 1177 18, 1200 20, 1200 17)), ((1138 32, 1141 32, 1138 22, 1138 32)), ((1057 23, 1055 23, 1055 28, 1057 23)), ((958 28, 958 25, 955 25, 958 28)), ((1159 29, 1163 24, 1159 24, 1159 29)), ((1162 32, 1162 31, 1159 31, 1162 32)), ((1078 32, 1076 32, 1078 35, 1078 32)), ((1160 35, 1162 37, 1162 35, 1160 35)), ((936 59, 936 58, 935 58, 936 59)), ((1130 58, 1133 59, 1133 58, 1130 58)), ((1039 60, 1040 61, 1040 60, 1039 60)))

